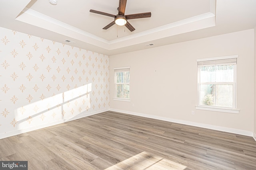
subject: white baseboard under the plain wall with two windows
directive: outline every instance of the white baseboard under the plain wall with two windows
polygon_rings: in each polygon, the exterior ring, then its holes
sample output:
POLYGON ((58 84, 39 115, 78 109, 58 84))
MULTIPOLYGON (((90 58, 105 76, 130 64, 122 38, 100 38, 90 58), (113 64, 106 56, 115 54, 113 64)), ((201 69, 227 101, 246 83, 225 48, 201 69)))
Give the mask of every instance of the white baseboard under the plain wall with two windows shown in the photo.
MULTIPOLYGON (((203 124, 203 123, 196 123, 192 121, 184 121, 184 120, 179 120, 179 119, 171 119, 168 117, 161 117, 161 116, 156 116, 156 115, 148 115, 144 113, 136 113, 132 111, 125 111, 125 110, 119 110, 119 109, 109 109, 110 111, 116 111, 120 113, 126 113, 130 115, 136 115, 136 116, 141 116, 141 117, 148 117, 152 119, 158 119, 158 120, 163 120, 163 121, 169 121, 169 122, 174 122, 174 123, 180 123, 184 125, 191 125, 191 126, 196 126, 196 127, 203 127, 206 129, 212 129, 212 130, 217 130, 217 131, 223 131, 223 132, 228 132, 228 133, 235 133, 238 135, 245 135, 245 136, 250 136, 253 137, 253 133, 250 131, 244 131, 240 129, 232 129, 228 127, 221 127, 221 126, 215 126, 215 125, 208 125, 208 124, 203 124)), ((254 139, 256 139, 256 136, 254 134, 254 139)), ((256 141, 256 140, 255 140, 256 141)))

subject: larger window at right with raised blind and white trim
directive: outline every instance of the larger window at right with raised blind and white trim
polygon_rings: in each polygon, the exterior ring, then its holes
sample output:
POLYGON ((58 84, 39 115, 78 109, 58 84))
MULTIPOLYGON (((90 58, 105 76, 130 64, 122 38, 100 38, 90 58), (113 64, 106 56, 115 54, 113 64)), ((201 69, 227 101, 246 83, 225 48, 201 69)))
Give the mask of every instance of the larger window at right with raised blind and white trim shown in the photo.
POLYGON ((236 110, 236 60, 238 56, 198 59, 198 107, 212 111, 236 110))

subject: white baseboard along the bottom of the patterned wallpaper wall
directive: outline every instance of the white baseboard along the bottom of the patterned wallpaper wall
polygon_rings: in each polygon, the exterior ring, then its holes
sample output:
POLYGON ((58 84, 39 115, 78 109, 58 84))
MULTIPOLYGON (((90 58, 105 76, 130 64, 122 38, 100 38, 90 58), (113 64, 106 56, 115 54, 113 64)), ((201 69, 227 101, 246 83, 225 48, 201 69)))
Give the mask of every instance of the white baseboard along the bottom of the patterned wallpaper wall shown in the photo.
POLYGON ((79 115, 76 115, 75 117, 69 117, 69 118, 66 118, 66 119, 61 119, 61 120, 54 121, 54 122, 51 122, 51 123, 46 123, 46 124, 43 124, 43 125, 38 125, 38 126, 26 128, 26 129, 17 129, 15 131, 2 133, 2 134, 0 134, 0 139, 6 138, 6 137, 11 137, 11 136, 14 136, 14 135, 19 135, 21 133, 26 133, 26 132, 42 129, 42 128, 45 128, 45 127, 50 127, 50 126, 53 126, 53 125, 58 125, 60 123, 65 123, 65 122, 68 122, 68 121, 80 119, 82 117, 95 115, 95 114, 98 114, 98 113, 102 113, 104 111, 108 111, 108 109, 102 109, 102 110, 93 111, 93 112, 90 112, 90 113, 82 112, 79 115))

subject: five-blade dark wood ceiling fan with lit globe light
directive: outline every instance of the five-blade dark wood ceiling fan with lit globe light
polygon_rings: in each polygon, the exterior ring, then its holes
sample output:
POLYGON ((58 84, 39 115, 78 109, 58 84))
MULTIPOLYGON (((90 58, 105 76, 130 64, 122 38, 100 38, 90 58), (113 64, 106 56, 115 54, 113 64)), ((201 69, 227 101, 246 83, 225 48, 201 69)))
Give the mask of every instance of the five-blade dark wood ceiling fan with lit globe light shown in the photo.
POLYGON ((101 14, 104 16, 110 16, 110 17, 114 18, 114 21, 112 21, 106 27, 104 27, 102 29, 108 29, 116 23, 117 25, 125 25, 130 31, 134 31, 135 28, 127 20, 137 19, 137 18, 148 18, 148 17, 151 17, 151 12, 124 15, 126 2, 127 2, 127 0, 119 0, 119 7, 117 8, 117 10, 118 10, 117 15, 108 14, 108 13, 100 12, 100 11, 96 11, 96 10, 90 10, 90 12, 96 13, 96 14, 101 14))

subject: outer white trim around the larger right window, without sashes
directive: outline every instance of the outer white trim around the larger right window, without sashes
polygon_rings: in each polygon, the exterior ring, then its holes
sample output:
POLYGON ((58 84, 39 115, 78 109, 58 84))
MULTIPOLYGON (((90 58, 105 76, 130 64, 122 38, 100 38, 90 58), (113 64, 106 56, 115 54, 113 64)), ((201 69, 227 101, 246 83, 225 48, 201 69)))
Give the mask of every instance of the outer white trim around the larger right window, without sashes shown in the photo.
MULTIPOLYGON (((230 56, 223 56, 223 57, 212 57, 212 58, 206 58, 206 59, 197 59, 196 62, 200 62, 200 61, 212 61, 212 60, 221 60, 221 59, 234 59, 234 58, 238 58, 238 55, 230 55, 230 56)), ((234 67, 234 72, 236 72, 236 66, 234 67)), ((199 74, 199 72, 198 72, 199 74)), ((198 79, 199 79, 198 75, 198 79)), ((226 112, 226 113, 239 113, 239 109, 236 108, 236 96, 237 96, 237 91, 236 91, 236 74, 234 76, 234 84, 235 84, 235 88, 234 88, 234 96, 233 96, 233 101, 235 102, 234 106, 235 108, 228 108, 228 107, 217 107, 217 106, 202 106, 199 105, 199 101, 200 101, 200 97, 199 97, 199 80, 198 80, 198 92, 197 92, 197 98, 198 98, 198 102, 197 102, 197 106, 196 109, 199 110, 208 110, 208 111, 219 111, 219 112, 226 112)))

